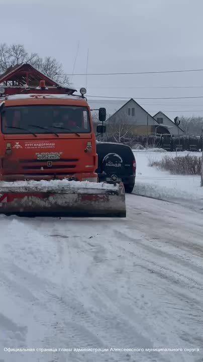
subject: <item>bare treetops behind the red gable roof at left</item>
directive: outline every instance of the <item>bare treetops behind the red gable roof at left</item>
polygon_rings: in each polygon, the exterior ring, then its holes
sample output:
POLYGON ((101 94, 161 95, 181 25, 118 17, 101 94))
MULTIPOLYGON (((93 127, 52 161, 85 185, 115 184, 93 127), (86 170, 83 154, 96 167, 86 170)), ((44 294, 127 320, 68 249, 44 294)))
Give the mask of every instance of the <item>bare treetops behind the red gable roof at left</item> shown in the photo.
POLYGON ((36 69, 54 79, 55 81, 68 85, 68 77, 63 75, 63 66, 55 58, 50 56, 41 58, 37 53, 29 54, 24 45, 6 43, 0 44, 0 73, 5 72, 11 66, 22 63, 29 63, 36 69))

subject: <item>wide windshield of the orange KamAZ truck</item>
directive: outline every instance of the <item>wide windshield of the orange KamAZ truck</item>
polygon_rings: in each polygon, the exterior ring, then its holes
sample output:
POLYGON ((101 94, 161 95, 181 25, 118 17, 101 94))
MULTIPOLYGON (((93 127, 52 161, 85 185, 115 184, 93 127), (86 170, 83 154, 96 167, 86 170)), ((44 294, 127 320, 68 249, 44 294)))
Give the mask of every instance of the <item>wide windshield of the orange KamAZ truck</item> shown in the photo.
POLYGON ((89 133, 88 110, 71 106, 5 107, 1 113, 4 134, 89 133))

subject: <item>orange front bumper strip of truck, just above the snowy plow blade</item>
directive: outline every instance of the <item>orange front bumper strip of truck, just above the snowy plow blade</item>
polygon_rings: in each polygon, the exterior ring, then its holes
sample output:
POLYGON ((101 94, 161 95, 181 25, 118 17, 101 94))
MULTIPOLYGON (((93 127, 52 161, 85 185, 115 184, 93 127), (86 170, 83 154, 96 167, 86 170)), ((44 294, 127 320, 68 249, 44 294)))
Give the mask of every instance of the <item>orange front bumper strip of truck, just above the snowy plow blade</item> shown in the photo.
POLYGON ((97 173, 95 172, 78 172, 78 173, 74 173, 74 174, 68 174, 68 173, 59 173, 59 174, 22 174, 22 173, 17 173, 17 174, 1 174, 0 175, 0 181, 8 181, 8 182, 13 182, 13 181, 24 181, 24 180, 51 180, 51 179, 63 179, 63 178, 67 178, 67 179, 74 179, 76 181, 92 181, 92 182, 96 182, 97 179, 97 173))

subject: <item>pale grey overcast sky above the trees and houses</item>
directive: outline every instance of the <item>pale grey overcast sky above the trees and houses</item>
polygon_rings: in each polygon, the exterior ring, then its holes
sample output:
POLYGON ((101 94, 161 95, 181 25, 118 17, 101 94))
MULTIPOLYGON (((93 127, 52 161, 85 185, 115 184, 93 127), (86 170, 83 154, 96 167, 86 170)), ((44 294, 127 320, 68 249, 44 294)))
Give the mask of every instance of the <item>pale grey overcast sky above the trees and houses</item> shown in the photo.
MULTIPOLYGON (((66 73, 72 73, 77 48, 74 73, 86 72, 87 49, 90 73, 203 68, 202 0, 0 0, 0 4, 1 42, 22 43, 29 52, 56 57, 66 73)), ((89 75, 87 90, 90 96, 135 100, 203 96, 202 77, 203 72, 89 75), (156 86, 202 87, 151 88, 156 86)), ((70 78, 75 86, 85 86, 85 76, 70 78)), ((203 98, 137 101, 151 114, 161 109, 170 118, 203 116, 203 98)), ((108 108, 118 107, 109 101, 108 108)))

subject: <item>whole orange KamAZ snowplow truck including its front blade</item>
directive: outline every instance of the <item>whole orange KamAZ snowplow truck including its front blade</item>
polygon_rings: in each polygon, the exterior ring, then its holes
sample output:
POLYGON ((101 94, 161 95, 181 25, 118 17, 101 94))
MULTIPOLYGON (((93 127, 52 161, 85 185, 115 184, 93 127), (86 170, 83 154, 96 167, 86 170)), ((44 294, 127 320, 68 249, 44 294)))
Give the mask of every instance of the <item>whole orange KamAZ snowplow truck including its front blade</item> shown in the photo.
MULTIPOLYGON (((123 185, 97 183, 96 138, 81 96, 36 93, 0 99, 0 212, 125 217, 123 185)), ((99 109, 97 132, 105 132, 99 109)))

